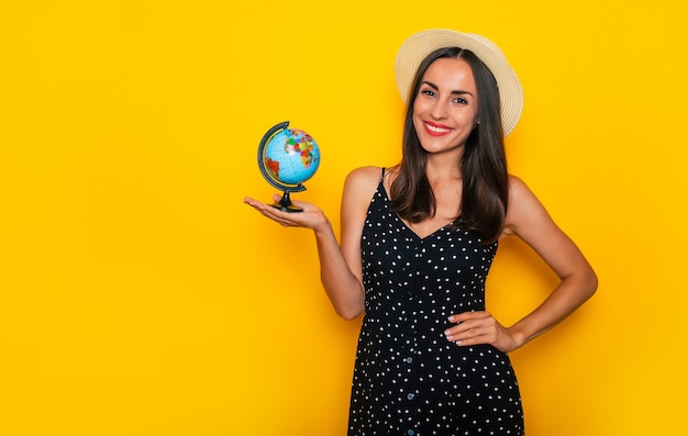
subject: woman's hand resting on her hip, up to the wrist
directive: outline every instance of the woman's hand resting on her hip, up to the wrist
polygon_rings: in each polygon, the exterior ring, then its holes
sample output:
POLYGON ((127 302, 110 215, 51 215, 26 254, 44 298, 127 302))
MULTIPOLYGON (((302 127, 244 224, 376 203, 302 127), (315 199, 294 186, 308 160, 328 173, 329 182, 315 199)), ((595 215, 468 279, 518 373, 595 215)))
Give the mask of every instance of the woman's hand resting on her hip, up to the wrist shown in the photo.
POLYGON ((450 316, 450 322, 457 325, 447 328, 444 334, 447 340, 458 346, 489 344, 504 353, 521 346, 509 328, 502 326, 489 312, 464 312, 450 316))

